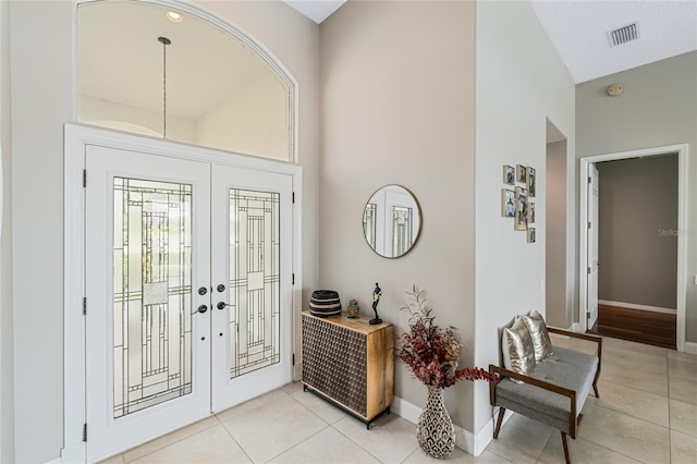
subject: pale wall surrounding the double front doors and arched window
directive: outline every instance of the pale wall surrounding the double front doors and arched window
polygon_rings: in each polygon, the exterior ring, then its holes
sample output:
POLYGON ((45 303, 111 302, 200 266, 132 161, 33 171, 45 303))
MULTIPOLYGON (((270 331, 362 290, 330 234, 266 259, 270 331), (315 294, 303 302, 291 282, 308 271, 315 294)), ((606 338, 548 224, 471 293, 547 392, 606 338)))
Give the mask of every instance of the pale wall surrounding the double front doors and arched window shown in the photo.
MULTIPOLYGON (((298 82, 303 274, 304 284, 313 289, 318 261, 318 26, 280 2, 199 3, 256 37, 298 82)), ((74 114, 73 7, 70 1, 9 5, 12 49, 2 65, 10 65, 12 80, 9 95, 3 87, 3 103, 4 97, 12 98, 9 225, 14 281, 3 269, 2 286, 13 290, 13 354, 14 365, 21 366, 13 373, 15 449, 9 462, 51 461, 63 441, 63 124, 74 114)), ((4 259, 3 254, 3 265, 4 259)), ((2 310, 4 323, 4 301, 2 310)), ((5 424, 4 411, 2 420, 5 424)), ((3 430, 3 441, 8 437, 11 432, 3 430)))

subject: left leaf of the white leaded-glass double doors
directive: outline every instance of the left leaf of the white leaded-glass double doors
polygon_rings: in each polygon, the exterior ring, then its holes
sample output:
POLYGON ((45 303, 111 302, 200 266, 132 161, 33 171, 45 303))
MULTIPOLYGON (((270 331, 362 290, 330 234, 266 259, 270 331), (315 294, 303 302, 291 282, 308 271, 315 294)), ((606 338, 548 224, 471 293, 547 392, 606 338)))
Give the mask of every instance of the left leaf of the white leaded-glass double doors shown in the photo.
POLYGON ((210 164, 88 146, 86 168, 91 461, 210 413, 210 164))

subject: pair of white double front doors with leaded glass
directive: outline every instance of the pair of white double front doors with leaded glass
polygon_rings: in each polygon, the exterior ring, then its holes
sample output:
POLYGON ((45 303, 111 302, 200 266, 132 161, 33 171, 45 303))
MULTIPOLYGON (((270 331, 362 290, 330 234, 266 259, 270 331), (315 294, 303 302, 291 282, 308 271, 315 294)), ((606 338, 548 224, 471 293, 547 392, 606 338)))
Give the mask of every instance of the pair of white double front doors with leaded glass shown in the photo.
POLYGON ((292 380, 292 176, 88 145, 87 461, 292 380))

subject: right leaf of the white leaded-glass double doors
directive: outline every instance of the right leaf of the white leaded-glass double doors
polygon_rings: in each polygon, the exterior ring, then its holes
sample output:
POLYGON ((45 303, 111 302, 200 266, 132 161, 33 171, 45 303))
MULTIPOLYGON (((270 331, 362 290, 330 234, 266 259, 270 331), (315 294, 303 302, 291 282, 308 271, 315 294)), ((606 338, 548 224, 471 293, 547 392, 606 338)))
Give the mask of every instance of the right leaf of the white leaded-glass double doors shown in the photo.
POLYGON ((213 411, 292 380, 292 178, 216 166, 213 411))

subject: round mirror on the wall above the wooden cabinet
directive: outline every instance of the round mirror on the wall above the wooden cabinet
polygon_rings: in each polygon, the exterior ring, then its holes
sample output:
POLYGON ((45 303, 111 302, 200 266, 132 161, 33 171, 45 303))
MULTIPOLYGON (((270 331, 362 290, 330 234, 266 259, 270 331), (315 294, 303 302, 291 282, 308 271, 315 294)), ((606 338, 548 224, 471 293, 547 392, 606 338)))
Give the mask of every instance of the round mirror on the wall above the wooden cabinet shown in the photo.
POLYGON ((363 212, 363 233, 368 246, 386 258, 408 253, 420 229, 418 203, 401 185, 386 185, 374 193, 363 212))

